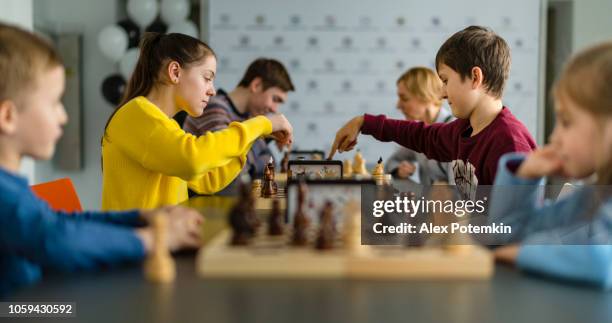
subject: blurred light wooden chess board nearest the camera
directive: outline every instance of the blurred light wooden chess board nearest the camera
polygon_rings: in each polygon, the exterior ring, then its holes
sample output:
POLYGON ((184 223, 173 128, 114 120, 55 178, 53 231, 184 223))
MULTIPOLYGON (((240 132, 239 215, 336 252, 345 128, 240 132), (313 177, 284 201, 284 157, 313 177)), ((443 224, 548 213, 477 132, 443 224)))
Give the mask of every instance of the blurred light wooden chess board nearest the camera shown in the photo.
POLYGON ((380 280, 487 279, 493 273, 491 253, 477 246, 348 250, 338 239, 334 249, 317 250, 292 246, 289 233, 272 237, 263 230, 248 246, 231 246, 231 232, 222 231, 199 251, 196 271, 202 277, 380 280))

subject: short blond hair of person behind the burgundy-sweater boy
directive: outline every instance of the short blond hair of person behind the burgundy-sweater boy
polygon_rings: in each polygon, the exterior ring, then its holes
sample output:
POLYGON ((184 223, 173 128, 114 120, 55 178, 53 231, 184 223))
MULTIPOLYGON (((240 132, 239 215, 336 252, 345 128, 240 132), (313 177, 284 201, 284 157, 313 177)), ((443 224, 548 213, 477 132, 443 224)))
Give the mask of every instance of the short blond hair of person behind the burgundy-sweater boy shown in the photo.
POLYGON ((397 79, 397 84, 400 83, 419 100, 442 106, 442 81, 431 69, 413 67, 397 79))

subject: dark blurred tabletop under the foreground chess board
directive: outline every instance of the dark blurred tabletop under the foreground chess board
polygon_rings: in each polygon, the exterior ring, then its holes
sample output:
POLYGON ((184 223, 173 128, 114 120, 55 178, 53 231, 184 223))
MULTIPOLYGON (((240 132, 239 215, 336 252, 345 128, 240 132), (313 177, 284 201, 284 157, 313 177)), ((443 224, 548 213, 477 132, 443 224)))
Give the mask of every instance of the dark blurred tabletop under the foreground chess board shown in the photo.
MULTIPOLYGON (((234 201, 189 200, 206 216, 205 240, 225 225, 234 201)), ((612 322, 612 293, 502 265, 485 281, 224 280, 198 277, 194 252, 175 259, 170 285, 146 281, 142 266, 132 265, 52 274, 10 301, 76 302, 76 318, 65 320, 90 323, 612 322)))

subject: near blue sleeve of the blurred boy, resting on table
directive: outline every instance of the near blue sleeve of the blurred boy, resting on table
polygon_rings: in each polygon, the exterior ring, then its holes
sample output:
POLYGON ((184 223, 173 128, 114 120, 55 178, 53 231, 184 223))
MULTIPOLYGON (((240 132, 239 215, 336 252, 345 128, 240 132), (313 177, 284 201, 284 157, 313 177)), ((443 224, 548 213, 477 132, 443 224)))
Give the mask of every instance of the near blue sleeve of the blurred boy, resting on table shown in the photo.
POLYGON ((43 202, 17 202, 11 214, 0 217, 0 250, 44 267, 93 269, 145 255, 143 243, 128 227, 59 216, 43 202))

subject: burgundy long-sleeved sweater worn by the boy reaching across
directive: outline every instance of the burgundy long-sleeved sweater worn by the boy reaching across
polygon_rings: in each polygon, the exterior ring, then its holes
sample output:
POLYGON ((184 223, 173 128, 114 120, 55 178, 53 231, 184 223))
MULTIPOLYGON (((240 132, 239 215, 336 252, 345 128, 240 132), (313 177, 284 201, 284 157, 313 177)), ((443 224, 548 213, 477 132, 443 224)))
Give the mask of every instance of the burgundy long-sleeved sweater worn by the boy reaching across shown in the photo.
POLYGON ((380 141, 394 141, 430 159, 451 162, 455 184, 466 197, 473 197, 478 184, 493 184, 503 154, 529 152, 536 147, 527 128, 506 107, 473 137, 469 120, 427 126, 420 121, 369 114, 364 115, 361 132, 380 141))

